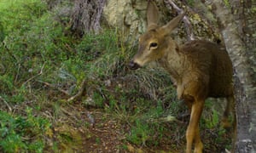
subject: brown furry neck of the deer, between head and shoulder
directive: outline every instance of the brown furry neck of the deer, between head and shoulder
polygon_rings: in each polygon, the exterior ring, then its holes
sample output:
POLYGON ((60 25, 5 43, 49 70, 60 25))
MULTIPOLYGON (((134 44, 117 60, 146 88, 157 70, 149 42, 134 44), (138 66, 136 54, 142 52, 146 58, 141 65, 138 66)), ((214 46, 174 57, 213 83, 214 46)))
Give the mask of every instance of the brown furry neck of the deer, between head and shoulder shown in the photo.
POLYGON ((166 54, 159 60, 160 65, 168 71, 174 82, 181 82, 185 65, 184 55, 176 42, 170 40, 166 54))

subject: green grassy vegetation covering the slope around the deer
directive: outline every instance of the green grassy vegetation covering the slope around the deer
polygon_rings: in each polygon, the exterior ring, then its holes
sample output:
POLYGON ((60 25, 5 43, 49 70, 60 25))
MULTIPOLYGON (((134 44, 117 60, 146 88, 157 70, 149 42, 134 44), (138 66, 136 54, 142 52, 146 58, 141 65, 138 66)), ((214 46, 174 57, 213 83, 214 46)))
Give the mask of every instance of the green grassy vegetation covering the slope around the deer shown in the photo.
MULTIPOLYGON (((176 99, 168 74, 151 67, 130 71, 126 64, 137 48, 122 42, 118 30, 76 37, 55 19, 55 11, 40 0, 0 2, 0 151, 79 150, 74 145, 93 134, 90 122, 76 118, 80 105, 71 108, 77 103, 90 108, 88 101, 105 114, 102 120, 112 118, 122 127, 125 139, 119 148, 127 150, 125 143, 183 145, 188 118, 169 118, 186 108, 176 99), (68 102, 84 79, 86 95, 68 102), (65 116, 72 122, 63 122, 65 116), (84 139, 79 130, 67 131, 72 127, 87 130, 84 139)), ((224 129, 217 131, 218 113, 209 112, 201 125, 224 142, 224 129)), ((95 142, 102 144, 98 137, 95 142)))

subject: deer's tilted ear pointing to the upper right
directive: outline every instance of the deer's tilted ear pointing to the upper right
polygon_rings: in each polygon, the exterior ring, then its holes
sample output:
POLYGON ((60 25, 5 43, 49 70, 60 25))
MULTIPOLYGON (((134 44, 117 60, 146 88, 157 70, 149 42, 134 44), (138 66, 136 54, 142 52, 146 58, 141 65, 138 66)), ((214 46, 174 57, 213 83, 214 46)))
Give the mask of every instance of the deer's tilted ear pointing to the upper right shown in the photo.
POLYGON ((186 13, 177 15, 174 19, 172 19, 170 22, 168 22, 165 26, 162 26, 160 28, 160 31, 163 35, 168 35, 172 32, 174 28, 176 28, 181 20, 183 20, 183 17, 186 13))

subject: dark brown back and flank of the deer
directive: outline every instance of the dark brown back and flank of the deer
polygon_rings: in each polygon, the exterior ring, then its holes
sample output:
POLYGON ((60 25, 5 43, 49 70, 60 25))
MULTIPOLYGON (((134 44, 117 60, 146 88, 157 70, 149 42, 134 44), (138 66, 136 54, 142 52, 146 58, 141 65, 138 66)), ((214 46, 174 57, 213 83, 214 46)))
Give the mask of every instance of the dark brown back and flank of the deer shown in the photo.
POLYGON ((233 94, 233 69, 229 54, 221 45, 208 41, 191 41, 181 48, 189 61, 189 71, 209 77, 208 97, 226 97, 233 94))

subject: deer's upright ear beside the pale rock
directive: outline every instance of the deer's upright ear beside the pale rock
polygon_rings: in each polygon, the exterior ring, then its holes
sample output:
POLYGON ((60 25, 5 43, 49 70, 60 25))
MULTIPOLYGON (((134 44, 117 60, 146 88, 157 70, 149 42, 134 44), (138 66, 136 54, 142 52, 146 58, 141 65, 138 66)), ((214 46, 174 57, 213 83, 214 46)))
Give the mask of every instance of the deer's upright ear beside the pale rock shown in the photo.
POLYGON ((158 9, 152 0, 148 0, 147 20, 148 27, 152 25, 157 25, 159 21, 158 9))

